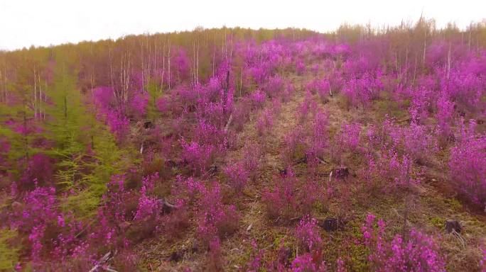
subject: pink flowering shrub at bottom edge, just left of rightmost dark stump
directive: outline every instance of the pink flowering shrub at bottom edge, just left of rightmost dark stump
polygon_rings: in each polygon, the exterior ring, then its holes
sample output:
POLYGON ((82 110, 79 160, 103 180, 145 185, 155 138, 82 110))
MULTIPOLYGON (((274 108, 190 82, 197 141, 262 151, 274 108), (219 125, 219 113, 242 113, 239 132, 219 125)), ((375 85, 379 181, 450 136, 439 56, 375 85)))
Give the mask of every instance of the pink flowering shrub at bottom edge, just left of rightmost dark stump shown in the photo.
POLYGON ((432 237, 411 229, 407 239, 396 234, 390 241, 385 234, 385 222, 368 214, 362 227, 364 244, 370 251, 368 259, 374 271, 446 271, 432 237))

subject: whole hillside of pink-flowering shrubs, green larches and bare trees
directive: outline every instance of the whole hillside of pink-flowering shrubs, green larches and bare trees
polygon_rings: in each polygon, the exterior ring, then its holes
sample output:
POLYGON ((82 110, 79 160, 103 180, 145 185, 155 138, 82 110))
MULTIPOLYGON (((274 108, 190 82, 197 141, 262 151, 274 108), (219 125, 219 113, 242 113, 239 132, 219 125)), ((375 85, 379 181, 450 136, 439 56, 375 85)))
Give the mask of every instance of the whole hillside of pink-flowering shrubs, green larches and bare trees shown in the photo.
POLYGON ((486 26, 0 52, 0 271, 486 271, 486 26))

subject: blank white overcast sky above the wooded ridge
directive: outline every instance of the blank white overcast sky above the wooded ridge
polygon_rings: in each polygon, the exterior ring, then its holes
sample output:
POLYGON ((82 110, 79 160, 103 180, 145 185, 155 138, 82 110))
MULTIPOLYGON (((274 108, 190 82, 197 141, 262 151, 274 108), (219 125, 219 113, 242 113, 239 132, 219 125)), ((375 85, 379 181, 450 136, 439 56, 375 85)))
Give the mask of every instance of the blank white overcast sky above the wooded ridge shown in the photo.
POLYGON ((334 30, 343 22, 397 25, 421 13, 461 28, 486 18, 486 0, 0 0, 0 49, 127 34, 241 26, 334 30))

